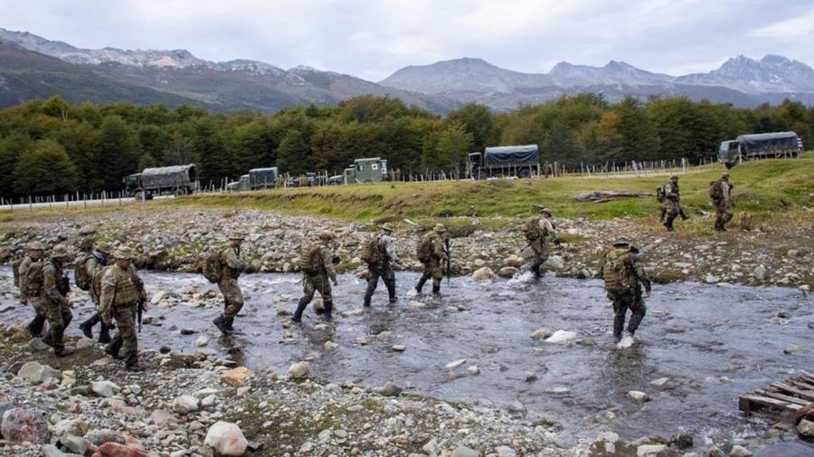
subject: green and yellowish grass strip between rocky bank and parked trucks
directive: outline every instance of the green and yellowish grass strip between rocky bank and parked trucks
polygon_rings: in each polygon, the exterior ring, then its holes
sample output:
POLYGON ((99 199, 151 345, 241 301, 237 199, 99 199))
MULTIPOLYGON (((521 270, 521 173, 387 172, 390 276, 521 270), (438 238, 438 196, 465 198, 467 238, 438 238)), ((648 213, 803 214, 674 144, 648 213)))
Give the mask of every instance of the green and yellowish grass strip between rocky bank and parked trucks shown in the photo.
MULTIPOLYGON (((682 205, 689 212, 712 211, 707 188, 717 179, 723 166, 708 166, 702 171, 681 175, 682 205)), ((814 194, 814 158, 760 160, 730 170, 737 212, 762 213, 799 209, 811 205, 814 194)), ((502 224, 500 217, 533 214, 531 205, 546 205, 554 215, 565 218, 587 217, 608 220, 619 217, 652 218, 659 204, 655 197, 629 198, 604 204, 577 202, 573 196, 599 190, 627 190, 655 195, 666 176, 556 178, 491 181, 447 181, 433 183, 378 183, 359 186, 329 186, 298 189, 270 189, 235 194, 192 195, 149 205, 128 205, 128 211, 149 211, 173 207, 213 207, 223 209, 260 209, 284 214, 316 214, 361 224, 375 220, 411 218, 429 223, 442 211, 470 215, 474 211, 487 218, 485 224, 502 224), (497 218, 490 220, 488 218, 497 218)), ((62 208, 58 214, 101 214, 120 210, 118 206, 91 209, 62 208)), ((43 209, 33 212, 0 214, 0 222, 33 219, 55 214, 43 209)), ((452 219, 455 224, 455 219, 452 219)), ((469 224, 461 219, 459 224, 469 224)))

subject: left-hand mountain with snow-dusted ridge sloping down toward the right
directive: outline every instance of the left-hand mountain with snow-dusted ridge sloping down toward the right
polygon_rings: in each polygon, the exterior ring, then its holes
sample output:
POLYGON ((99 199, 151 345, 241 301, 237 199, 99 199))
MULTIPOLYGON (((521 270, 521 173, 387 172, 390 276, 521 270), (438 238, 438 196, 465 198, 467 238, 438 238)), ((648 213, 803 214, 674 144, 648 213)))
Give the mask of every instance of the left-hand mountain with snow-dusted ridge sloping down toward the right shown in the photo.
MULTIPOLYGON (((93 81, 116 81, 124 87, 171 95, 175 97, 175 101, 168 103, 170 105, 188 102, 203 104, 216 111, 259 109, 273 112, 309 103, 332 105, 364 94, 389 95, 409 105, 438 113, 450 111, 459 104, 456 100, 384 87, 333 71, 318 71, 308 67, 283 70, 269 63, 251 60, 210 62, 199 59, 186 50, 80 49, 33 33, 12 32, 2 28, 0 43, 45 54, 64 64, 62 73, 52 74, 55 85, 39 91, 21 92, 36 93, 40 97, 59 94, 68 100, 81 99, 80 94, 83 92, 77 88, 76 77, 72 77, 70 81, 62 81, 58 76, 83 74, 93 81), (71 70, 67 70, 68 65, 71 70)), ((0 64, 0 73, 19 68, 38 71, 39 63, 32 61, 30 67, 0 64)), ((97 101, 100 98, 143 102, 141 98, 121 96, 118 91, 110 91, 109 95, 99 92, 87 100, 97 101)), ((0 107, 13 103, 11 99, 4 99, 0 102, 0 107)))

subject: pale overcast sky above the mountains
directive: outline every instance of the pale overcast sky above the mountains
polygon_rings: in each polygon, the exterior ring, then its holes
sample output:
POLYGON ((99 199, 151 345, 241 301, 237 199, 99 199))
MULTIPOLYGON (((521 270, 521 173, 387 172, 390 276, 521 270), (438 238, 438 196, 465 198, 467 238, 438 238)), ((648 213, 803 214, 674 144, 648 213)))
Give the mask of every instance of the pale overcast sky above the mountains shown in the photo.
POLYGON ((212 61, 299 64, 379 81, 480 57, 714 70, 738 54, 814 64, 812 0, 0 0, 0 27, 83 48, 186 49, 212 61))

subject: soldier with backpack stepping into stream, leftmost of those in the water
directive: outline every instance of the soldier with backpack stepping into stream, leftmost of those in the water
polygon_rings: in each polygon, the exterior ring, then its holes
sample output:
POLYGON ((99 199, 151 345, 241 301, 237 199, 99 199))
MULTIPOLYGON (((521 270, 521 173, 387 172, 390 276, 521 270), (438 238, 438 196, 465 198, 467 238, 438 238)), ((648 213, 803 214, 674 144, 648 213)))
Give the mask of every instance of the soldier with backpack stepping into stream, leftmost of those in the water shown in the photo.
POLYGON ((212 322, 223 335, 234 333, 234 317, 243 308, 243 292, 238 284, 238 278, 243 271, 241 261, 241 243, 245 235, 234 232, 229 236, 229 245, 221 251, 221 275, 218 280, 218 289, 223 295, 223 314, 215 318, 212 322))

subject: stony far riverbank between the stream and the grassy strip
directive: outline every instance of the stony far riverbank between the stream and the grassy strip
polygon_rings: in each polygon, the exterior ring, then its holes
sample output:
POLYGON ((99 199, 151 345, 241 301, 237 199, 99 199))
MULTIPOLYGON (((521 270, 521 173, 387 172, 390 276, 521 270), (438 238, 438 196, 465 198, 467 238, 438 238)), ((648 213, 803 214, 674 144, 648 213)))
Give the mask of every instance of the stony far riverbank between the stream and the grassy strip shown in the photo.
MULTIPOLYGON (((397 270, 419 270, 415 243, 427 227, 396 221, 396 244, 402 253, 397 270)), ((516 218, 453 217, 450 224, 454 274, 484 267, 510 277, 525 268, 518 257, 525 240, 516 218)), ((555 219, 564 242, 552 250, 549 271, 574 278, 596 277, 601 253, 617 236, 642 246, 644 261, 657 282, 701 281, 780 285, 808 290, 814 286, 814 224, 807 213, 781 214, 755 221, 741 214, 728 233, 710 233, 709 216, 677 225, 666 233, 656 221, 555 219)), ((232 231, 248 234, 243 255, 248 271, 297 271, 300 247, 320 230, 338 235, 341 271, 363 270, 361 244, 374 224, 349 224, 316 216, 286 216, 258 210, 175 208, 54 216, 36 222, 0 224, 0 262, 20 255, 34 239, 67 243, 78 250, 96 240, 126 243, 139 252, 138 266, 164 271, 198 271, 203 252, 225 243, 232 231)))

